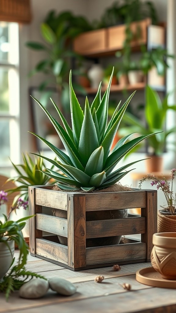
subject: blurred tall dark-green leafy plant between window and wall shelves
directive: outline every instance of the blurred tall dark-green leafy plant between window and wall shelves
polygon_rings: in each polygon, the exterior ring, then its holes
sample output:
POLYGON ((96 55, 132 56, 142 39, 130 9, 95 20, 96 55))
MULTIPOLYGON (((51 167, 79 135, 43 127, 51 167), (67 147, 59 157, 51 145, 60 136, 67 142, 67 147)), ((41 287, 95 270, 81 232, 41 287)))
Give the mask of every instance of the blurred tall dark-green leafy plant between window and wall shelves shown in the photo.
MULTIPOLYGON (((70 11, 63 11, 57 14, 50 11, 44 23, 41 24, 41 34, 44 44, 40 42, 27 42, 30 49, 44 51, 46 57, 36 64, 30 75, 42 72, 46 76, 39 90, 44 90, 47 85, 55 86, 60 95, 60 110, 65 113, 69 110, 68 103, 68 69, 70 68, 71 58, 80 59, 79 55, 74 53, 71 47, 75 36, 84 31, 91 30, 92 26, 83 16, 75 16, 70 11), (50 78, 51 77, 51 78, 50 78)), ((75 84, 78 90, 84 89, 75 84)), ((48 94, 48 99, 51 94, 48 94)))

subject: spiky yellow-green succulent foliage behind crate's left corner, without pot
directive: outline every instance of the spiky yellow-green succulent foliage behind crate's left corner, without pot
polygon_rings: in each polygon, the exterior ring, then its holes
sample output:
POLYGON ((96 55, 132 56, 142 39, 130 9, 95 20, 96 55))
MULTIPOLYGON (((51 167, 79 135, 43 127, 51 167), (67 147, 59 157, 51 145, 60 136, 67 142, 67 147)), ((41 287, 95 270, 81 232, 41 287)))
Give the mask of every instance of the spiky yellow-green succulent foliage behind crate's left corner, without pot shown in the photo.
MULTIPOLYGON (((19 192, 19 195, 17 195, 13 200, 13 206, 16 206, 19 198, 23 198, 23 200, 28 200, 28 187, 34 186, 34 185, 47 185, 52 184, 50 182, 50 177, 46 175, 44 172, 45 164, 43 159, 40 157, 34 157, 34 161, 32 158, 24 153, 22 153, 23 156, 23 164, 15 165, 12 161, 13 168, 17 172, 17 176, 10 177, 6 182, 12 181, 12 182, 18 182, 19 186, 6 189, 5 191, 8 194, 11 194, 13 192, 19 192)), ((54 168, 54 166, 51 167, 51 170, 54 168)), ((54 182, 53 182, 54 183, 54 182)))

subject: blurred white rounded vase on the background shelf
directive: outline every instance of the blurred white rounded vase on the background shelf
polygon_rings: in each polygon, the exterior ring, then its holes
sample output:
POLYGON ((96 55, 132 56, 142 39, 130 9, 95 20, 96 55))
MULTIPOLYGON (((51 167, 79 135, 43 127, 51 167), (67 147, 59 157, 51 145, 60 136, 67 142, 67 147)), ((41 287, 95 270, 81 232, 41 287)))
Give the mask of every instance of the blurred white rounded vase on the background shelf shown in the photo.
POLYGON ((92 88, 98 88, 103 79, 103 69, 100 64, 93 64, 88 70, 87 75, 91 81, 92 88))

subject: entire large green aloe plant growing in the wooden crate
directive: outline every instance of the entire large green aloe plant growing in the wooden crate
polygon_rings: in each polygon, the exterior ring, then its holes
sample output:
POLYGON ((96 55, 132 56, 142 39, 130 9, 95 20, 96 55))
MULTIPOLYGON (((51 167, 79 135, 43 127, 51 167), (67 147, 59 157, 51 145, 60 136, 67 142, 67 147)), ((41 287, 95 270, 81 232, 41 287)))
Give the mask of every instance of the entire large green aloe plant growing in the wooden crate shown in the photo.
POLYGON ((120 109, 119 103, 111 120, 109 123, 107 123, 108 99, 112 74, 109 85, 102 99, 100 84, 96 97, 93 100, 91 106, 89 105, 88 99, 86 97, 85 109, 83 112, 72 87, 70 72, 70 108, 72 129, 52 99, 51 101, 55 107, 55 110, 58 112, 64 127, 62 127, 54 119, 54 117, 49 114, 46 108, 37 99, 34 98, 34 100, 38 102, 55 127, 68 154, 65 154, 63 151, 39 135, 34 134, 52 151, 54 151, 56 157, 60 160, 54 161, 41 156, 65 174, 61 175, 58 172, 54 172, 53 170, 49 169, 46 170, 47 173, 45 171, 45 174, 47 174, 49 177, 56 179, 57 186, 62 190, 74 191, 82 189, 85 192, 90 192, 95 189, 103 189, 114 185, 123 176, 130 172, 126 171, 126 168, 138 161, 129 163, 112 172, 117 163, 139 142, 152 135, 149 134, 140 136, 129 141, 129 138, 132 135, 130 134, 120 139, 110 154, 111 145, 116 135, 120 121, 122 120, 127 105, 135 93, 133 92, 133 94, 127 99, 127 101, 120 109))

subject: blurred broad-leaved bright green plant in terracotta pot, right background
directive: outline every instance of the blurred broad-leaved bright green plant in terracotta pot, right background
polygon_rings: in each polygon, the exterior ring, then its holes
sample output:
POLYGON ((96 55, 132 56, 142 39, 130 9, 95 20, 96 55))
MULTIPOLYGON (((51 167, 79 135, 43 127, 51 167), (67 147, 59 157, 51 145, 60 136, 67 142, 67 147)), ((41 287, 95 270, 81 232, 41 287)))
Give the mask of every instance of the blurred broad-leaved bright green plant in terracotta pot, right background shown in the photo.
POLYGON ((168 95, 161 101, 158 93, 151 87, 146 87, 145 120, 147 125, 142 124, 141 119, 129 112, 124 115, 123 121, 127 127, 121 132, 137 132, 141 135, 158 131, 157 134, 148 138, 148 156, 146 160, 147 172, 161 172, 163 166, 163 152, 167 137, 176 132, 176 126, 166 129, 165 121, 168 110, 176 111, 176 105, 168 104, 168 95))

